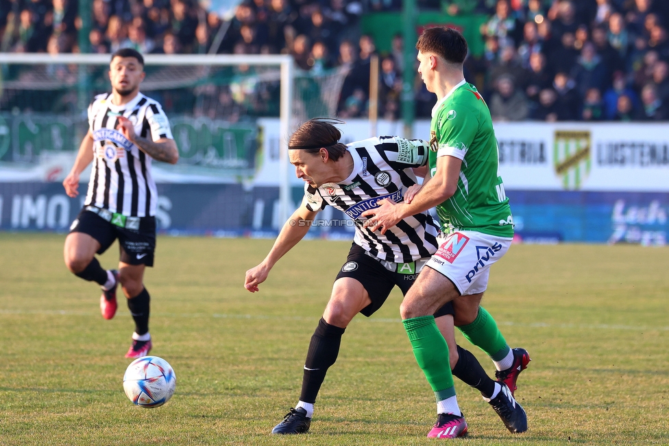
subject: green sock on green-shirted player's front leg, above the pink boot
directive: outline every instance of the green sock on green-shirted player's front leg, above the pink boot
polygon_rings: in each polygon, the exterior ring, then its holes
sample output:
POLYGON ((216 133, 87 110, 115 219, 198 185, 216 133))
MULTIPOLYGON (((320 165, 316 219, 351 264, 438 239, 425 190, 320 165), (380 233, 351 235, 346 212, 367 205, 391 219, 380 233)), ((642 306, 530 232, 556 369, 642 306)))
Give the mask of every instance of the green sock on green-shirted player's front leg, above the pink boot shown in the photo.
POLYGON ((448 362, 448 344, 443 339, 434 316, 402 320, 416 362, 434 390, 437 401, 455 395, 453 375, 448 362))

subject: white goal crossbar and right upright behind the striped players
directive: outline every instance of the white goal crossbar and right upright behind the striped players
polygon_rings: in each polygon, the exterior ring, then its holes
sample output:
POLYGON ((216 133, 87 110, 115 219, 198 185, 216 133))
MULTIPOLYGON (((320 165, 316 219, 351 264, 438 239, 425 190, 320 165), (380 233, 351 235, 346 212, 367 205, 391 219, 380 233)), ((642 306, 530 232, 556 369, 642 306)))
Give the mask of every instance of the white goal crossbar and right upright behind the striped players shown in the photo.
MULTIPOLYGON (((280 84, 280 99, 278 106, 278 115, 280 121, 279 128, 279 210, 278 220, 285 222, 289 213, 291 212, 291 189, 290 189, 290 169, 288 156, 288 141, 291 132, 291 119, 295 117, 293 112, 293 93, 295 80, 295 67, 293 58, 289 55, 191 55, 191 54, 147 54, 145 58, 145 67, 162 66, 162 67, 204 67, 204 73, 199 75, 208 75, 208 69, 213 67, 241 67, 249 65, 252 67, 274 67, 278 68, 278 81, 280 84)), ((77 89, 77 108, 84 113, 85 106, 90 102, 92 91, 88 89, 86 82, 86 72, 82 70, 85 66, 99 66, 104 67, 109 64, 111 54, 58 54, 52 56, 50 54, 15 54, 15 53, 0 53, 0 67, 3 68, 2 86, 3 91, 5 86, 11 84, 6 79, 5 72, 8 71, 10 65, 27 65, 32 67, 51 67, 47 71, 53 71, 54 67, 62 66, 77 66, 76 73, 72 73, 75 82, 69 81, 69 88, 77 89), (85 96, 84 106, 82 107, 82 97, 85 96)), ((36 69, 34 71, 37 71, 36 69)), ((273 79, 273 73, 263 73, 265 79, 273 79)), ((262 77, 263 74, 258 77, 262 77)), ((63 88, 65 81, 56 79, 53 81, 40 82, 34 76, 32 83, 28 83, 29 88, 35 95, 39 95, 40 91, 47 91, 49 89, 63 88), (61 82, 59 85, 58 82, 61 82)), ((170 79, 169 75, 165 79, 156 80, 155 82, 163 82, 165 85, 175 83, 174 79, 170 79)), ((25 83, 25 82, 24 82, 25 83)), ((218 98, 213 99, 215 102, 218 98)), ((48 99, 45 99, 48 100, 48 99)), ((211 101, 211 98, 209 98, 211 101)))

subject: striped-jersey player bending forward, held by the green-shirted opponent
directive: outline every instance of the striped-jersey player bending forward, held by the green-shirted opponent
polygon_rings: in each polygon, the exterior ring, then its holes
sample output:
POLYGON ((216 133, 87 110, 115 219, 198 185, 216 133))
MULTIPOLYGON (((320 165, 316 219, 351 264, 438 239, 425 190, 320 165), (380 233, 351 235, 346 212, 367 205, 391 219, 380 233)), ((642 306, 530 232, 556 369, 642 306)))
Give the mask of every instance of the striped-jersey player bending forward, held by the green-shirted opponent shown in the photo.
MULTIPOLYGON (((337 120, 311 119, 289 142, 291 163, 305 185, 300 207, 284 224, 269 254, 246 272, 245 288, 257 292, 271 268, 306 235, 318 211, 331 205, 354 220, 355 236, 323 317, 309 344, 300 400, 278 423, 273 434, 303 434, 311 426, 314 403, 328 368, 335 364, 341 336, 361 313, 372 316, 396 285, 406 294, 422 266, 437 251, 437 223, 428 213, 404 218, 396 231, 369 231, 361 215, 383 198, 411 200, 417 184, 415 169, 426 163, 428 143, 398 137, 339 143, 337 120)), ((454 311, 444 305, 435 313, 439 331, 448 342, 453 374, 478 390, 494 388, 476 357, 457 346, 454 311)))

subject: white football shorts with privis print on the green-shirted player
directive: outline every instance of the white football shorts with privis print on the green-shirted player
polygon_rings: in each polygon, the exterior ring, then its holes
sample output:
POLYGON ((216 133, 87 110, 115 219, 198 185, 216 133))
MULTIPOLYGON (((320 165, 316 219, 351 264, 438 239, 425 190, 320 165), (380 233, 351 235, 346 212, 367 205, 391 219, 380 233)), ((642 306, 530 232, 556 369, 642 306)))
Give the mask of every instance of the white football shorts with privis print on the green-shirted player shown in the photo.
POLYGON ((490 266, 507 253, 511 240, 476 231, 440 235, 439 249, 426 266, 448 277, 461 296, 479 294, 488 287, 490 266))

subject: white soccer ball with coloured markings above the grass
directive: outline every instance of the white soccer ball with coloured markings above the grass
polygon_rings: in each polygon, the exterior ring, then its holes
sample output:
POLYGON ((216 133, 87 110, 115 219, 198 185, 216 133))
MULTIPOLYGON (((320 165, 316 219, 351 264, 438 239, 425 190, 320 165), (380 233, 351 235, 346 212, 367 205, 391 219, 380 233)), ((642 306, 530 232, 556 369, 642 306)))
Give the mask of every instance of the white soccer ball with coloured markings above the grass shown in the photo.
POLYGON ((167 403, 174 395, 176 384, 172 366, 158 356, 134 360, 123 375, 125 395, 137 406, 147 409, 167 403))

